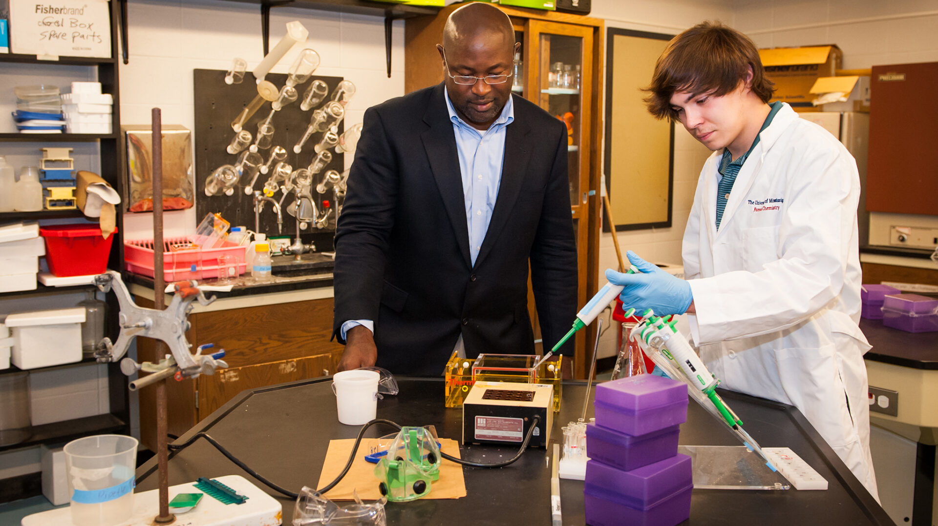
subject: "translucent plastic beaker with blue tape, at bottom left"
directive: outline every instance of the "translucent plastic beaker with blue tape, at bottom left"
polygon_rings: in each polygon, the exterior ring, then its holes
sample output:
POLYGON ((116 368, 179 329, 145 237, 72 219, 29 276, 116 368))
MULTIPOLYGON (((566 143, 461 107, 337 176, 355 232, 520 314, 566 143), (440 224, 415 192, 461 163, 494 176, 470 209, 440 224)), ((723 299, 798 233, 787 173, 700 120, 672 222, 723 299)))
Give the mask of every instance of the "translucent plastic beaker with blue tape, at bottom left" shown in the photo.
POLYGON ((133 512, 137 439, 96 435, 73 440, 65 453, 71 521, 75 526, 110 526, 133 512))

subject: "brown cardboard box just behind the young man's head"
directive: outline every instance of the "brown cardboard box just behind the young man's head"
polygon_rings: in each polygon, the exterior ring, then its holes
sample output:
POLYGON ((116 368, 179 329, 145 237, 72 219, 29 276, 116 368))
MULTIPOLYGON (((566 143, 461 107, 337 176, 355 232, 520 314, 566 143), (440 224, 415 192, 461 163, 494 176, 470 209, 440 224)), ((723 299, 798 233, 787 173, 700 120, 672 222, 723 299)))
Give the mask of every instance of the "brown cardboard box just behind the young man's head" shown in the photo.
POLYGON ((819 111, 811 104, 811 86, 820 77, 833 77, 843 52, 835 45, 759 50, 765 76, 775 83, 772 101, 788 102, 797 110, 819 111))

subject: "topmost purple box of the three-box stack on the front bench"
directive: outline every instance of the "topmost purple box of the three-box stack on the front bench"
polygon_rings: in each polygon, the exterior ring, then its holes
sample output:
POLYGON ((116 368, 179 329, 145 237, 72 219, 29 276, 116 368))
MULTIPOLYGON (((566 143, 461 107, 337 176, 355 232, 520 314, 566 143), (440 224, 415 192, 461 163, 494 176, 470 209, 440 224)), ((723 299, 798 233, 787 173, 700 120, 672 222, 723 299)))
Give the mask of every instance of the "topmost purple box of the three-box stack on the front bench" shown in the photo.
POLYGON ((598 426, 643 435, 688 419, 688 386, 654 374, 622 378, 598 384, 593 407, 598 426))

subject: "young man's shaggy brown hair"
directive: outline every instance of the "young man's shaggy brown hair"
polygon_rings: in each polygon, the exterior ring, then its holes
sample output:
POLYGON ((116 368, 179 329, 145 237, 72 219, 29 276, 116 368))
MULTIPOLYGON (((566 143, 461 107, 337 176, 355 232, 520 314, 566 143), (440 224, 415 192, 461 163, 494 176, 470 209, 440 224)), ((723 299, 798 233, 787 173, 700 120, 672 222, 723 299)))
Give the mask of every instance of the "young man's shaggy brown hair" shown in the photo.
POLYGON ((722 23, 698 23, 668 42, 644 88, 648 111, 658 119, 677 120, 671 107, 675 92, 719 97, 736 89, 752 68, 752 93, 768 102, 775 83, 765 78, 759 51, 746 35, 722 23))

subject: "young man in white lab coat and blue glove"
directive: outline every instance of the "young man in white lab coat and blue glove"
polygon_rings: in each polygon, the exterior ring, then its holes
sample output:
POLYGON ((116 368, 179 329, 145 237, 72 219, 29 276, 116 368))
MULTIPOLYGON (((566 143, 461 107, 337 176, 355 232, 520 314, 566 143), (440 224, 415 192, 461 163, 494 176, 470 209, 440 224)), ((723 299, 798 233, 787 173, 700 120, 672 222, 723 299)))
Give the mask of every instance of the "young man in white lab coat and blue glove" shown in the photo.
POLYGON ((856 163, 837 139, 782 102, 749 38, 701 23, 673 38, 646 90, 714 153, 703 165, 673 278, 634 253, 643 274, 626 308, 688 313, 693 343, 722 386, 796 406, 877 497, 857 325, 856 163))

